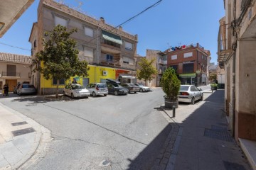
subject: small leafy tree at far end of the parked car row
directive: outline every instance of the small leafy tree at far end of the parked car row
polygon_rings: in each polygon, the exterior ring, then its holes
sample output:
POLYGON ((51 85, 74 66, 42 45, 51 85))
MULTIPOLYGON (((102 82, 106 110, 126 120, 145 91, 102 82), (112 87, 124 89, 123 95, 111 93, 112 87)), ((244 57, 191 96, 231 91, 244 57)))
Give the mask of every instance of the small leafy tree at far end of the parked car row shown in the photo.
POLYGON ((153 66, 155 59, 147 60, 146 58, 142 58, 139 62, 139 67, 141 69, 137 69, 137 78, 144 79, 144 81, 151 81, 153 79, 153 75, 157 74, 156 67, 153 66))

